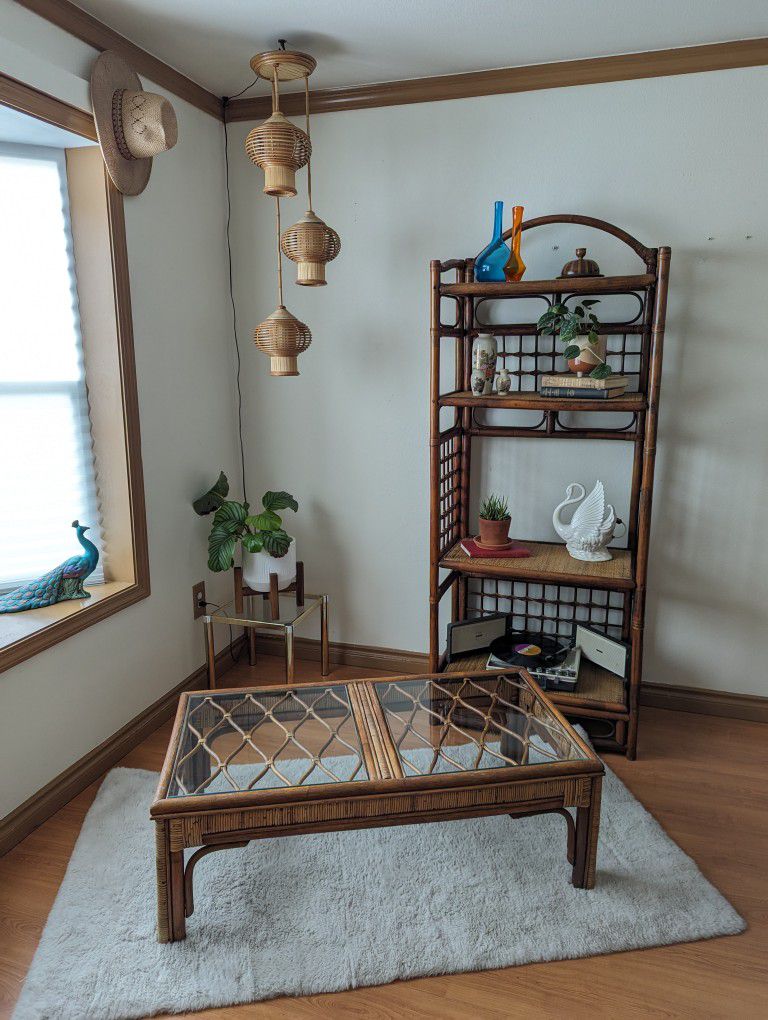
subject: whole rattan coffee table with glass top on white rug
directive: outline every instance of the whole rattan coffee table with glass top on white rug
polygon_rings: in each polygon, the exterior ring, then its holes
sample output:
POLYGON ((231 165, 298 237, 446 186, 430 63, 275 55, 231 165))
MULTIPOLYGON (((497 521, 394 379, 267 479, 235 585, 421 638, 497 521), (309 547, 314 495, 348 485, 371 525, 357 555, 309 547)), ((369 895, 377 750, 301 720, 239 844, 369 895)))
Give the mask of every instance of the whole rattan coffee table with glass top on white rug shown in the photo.
POLYGON ((203 856, 303 832, 557 812, 592 888, 603 774, 523 670, 185 694, 150 812, 158 938, 186 936, 203 856))

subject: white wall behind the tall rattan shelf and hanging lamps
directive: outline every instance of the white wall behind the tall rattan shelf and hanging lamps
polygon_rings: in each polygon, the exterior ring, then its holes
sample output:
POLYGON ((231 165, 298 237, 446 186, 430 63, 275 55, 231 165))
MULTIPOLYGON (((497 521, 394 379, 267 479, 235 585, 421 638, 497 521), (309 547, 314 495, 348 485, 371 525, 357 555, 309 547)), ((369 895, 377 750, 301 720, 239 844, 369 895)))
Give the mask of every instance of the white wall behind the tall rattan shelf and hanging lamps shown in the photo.
MULTIPOLYGON (((300 500, 293 530, 310 589, 330 593, 334 639, 426 648, 428 262, 475 254, 502 198, 507 217, 515 203, 581 212, 671 245, 646 678, 768 694, 767 119, 765 67, 314 118, 315 209, 342 254, 327 288, 288 286, 314 336, 301 376, 270 378, 254 351, 245 390, 250 486, 300 500)), ((276 303, 273 202, 241 155, 250 126, 231 140, 244 344, 276 303)), ((304 208, 285 201, 284 224, 304 208)), ((529 275, 557 275, 582 237, 525 236, 529 275)), ((596 239, 604 271, 636 271, 596 239)), ((624 515, 629 445, 491 446, 516 534, 556 538, 573 478, 602 477, 624 515)))

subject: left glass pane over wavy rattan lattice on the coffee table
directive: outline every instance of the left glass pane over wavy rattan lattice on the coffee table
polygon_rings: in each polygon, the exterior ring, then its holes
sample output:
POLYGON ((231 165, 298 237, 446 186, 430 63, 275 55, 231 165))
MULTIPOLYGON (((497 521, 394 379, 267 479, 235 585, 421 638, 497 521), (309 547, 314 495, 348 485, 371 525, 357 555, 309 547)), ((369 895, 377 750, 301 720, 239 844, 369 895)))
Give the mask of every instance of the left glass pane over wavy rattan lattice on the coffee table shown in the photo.
POLYGON ((190 695, 167 797, 367 779, 345 684, 190 695))

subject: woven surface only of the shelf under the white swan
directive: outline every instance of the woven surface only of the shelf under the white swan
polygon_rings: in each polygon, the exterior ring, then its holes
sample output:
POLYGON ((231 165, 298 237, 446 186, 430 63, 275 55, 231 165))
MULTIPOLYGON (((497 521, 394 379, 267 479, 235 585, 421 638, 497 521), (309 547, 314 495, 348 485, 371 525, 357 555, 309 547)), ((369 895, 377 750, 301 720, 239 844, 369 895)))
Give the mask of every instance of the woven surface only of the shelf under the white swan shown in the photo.
POLYGON ((482 570, 498 571, 500 576, 507 577, 542 577, 548 575, 572 576, 575 581, 595 579, 612 579, 624 581, 627 585, 632 581, 632 561, 628 549, 612 549, 612 560, 602 563, 585 563, 574 560, 565 546, 556 543, 525 542, 530 550, 527 559, 470 559, 457 543, 443 558, 446 566, 455 570, 471 570, 478 567, 482 570))

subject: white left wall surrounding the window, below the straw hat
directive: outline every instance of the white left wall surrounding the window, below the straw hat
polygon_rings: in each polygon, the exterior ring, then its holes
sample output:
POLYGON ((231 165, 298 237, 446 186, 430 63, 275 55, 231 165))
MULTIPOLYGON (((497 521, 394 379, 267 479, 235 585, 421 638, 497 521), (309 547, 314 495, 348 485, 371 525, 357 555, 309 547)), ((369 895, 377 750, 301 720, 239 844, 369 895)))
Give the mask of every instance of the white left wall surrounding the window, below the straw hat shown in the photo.
MULTIPOLYGON (((0 19, 3 69, 89 108, 95 52, 11 0, 0 19)), ((222 129, 168 98, 178 145, 125 199, 152 595, 0 674, 0 817, 202 664, 192 584, 231 583, 190 507, 219 468, 237 476, 222 129)))

